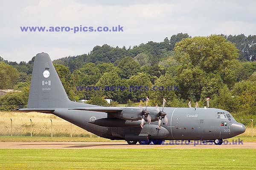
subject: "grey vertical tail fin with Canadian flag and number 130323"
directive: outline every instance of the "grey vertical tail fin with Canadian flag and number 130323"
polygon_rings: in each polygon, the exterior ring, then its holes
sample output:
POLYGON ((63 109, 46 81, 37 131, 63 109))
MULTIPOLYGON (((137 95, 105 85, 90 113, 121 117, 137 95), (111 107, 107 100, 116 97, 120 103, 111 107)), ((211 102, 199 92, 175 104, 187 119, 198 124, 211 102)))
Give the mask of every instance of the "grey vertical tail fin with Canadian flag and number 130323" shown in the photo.
POLYGON ((70 102, 49 55, 37 54, 32 71, 28 108, 66 108, 70 102))

